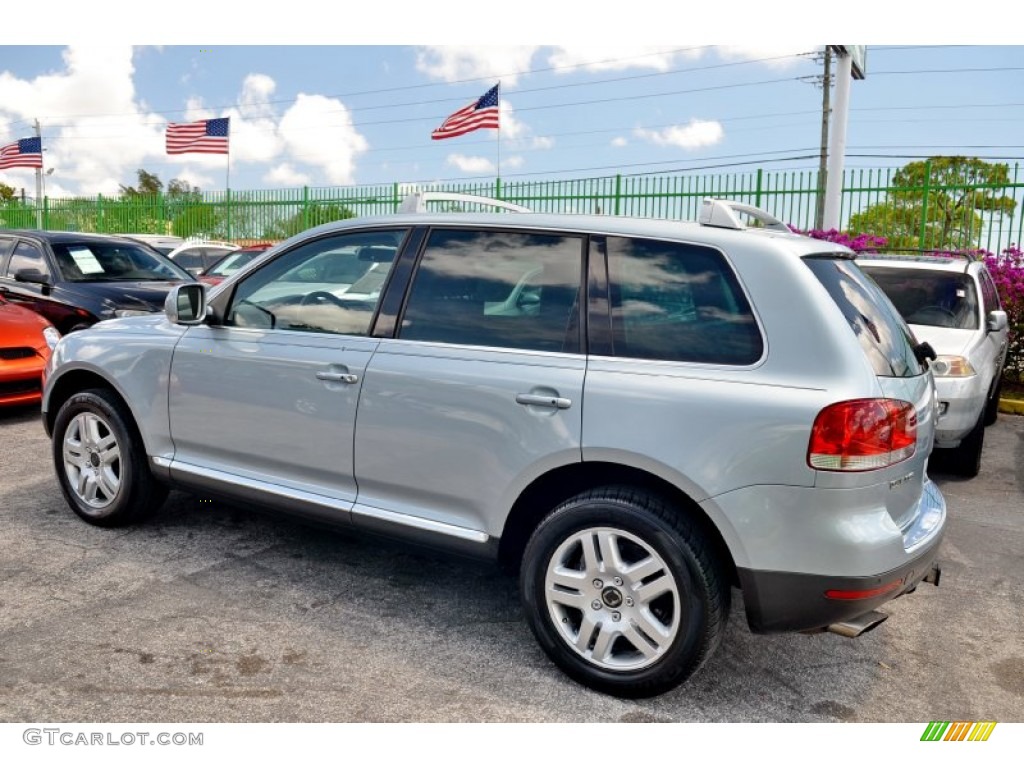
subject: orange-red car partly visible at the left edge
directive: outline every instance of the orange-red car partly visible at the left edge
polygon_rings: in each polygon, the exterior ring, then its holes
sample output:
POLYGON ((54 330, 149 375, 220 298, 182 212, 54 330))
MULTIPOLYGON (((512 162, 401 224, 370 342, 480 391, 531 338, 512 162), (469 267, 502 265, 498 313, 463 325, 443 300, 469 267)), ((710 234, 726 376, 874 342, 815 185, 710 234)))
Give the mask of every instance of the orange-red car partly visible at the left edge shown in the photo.
POLYGON ((59 338, 45 318, 0 295, 0 407, 40 401, 43 368, 59 338))

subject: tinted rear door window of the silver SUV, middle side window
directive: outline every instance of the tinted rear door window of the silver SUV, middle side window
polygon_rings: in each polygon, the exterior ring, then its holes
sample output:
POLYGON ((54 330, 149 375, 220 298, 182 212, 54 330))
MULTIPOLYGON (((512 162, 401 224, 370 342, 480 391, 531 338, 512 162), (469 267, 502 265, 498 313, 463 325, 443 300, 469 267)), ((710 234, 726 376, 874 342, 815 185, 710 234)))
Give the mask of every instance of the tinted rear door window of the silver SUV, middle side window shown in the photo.
POLYGON ((582 260, 578 237, 435 229, 399 336, 577 352, 582 260))

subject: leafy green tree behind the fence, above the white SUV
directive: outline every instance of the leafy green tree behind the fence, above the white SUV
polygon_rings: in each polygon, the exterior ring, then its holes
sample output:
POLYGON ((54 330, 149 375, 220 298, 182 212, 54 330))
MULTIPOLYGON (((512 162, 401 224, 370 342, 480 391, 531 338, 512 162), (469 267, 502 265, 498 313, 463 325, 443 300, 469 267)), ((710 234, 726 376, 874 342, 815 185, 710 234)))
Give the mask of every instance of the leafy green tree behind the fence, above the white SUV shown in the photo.
POLYGON ((895 248, 976 247, 981 213, 1013 213, 1016 201, 1002 194, 1009 183, 1006 163, 959 157, 909 163, 894 174, 885 202, 850 217, 850 232, 885 236, 895 248))

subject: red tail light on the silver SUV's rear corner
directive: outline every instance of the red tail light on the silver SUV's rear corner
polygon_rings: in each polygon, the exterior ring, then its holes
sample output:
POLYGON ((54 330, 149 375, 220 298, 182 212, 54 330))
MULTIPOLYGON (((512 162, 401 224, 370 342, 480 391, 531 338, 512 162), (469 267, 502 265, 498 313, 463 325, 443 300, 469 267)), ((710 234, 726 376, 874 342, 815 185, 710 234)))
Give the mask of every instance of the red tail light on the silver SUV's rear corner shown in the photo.
POLYGON ((813 469, 863 472, 909 459, 916 446, 918 412, 909 402, 844 400, 814 420, 807 463, 813 469))

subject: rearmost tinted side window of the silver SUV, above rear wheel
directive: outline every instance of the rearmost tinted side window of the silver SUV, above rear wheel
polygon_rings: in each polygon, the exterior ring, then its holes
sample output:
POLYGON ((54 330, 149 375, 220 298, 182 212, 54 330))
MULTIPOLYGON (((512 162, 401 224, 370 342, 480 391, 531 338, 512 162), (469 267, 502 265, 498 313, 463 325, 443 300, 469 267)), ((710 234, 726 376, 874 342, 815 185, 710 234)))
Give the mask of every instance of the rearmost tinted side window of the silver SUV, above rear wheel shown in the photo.
POLYGON ((612 354, 735 366, 760 359, 761 332, 721 252, 631 238, 607 238, 604 248, 612 354))

